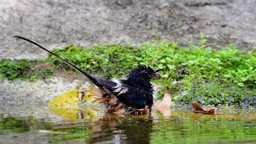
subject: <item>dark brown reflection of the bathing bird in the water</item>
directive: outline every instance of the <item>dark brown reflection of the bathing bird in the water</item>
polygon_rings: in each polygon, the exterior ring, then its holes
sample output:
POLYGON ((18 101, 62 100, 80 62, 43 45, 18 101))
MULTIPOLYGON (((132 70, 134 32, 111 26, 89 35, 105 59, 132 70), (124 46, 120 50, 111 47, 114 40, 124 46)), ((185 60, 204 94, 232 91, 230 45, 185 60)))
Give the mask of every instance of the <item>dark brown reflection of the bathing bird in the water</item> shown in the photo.
POLYGON ((90 129, 87 143, 149 143, 152 133, 153 117, 118 116, 107 114, 99 119, 90 129))

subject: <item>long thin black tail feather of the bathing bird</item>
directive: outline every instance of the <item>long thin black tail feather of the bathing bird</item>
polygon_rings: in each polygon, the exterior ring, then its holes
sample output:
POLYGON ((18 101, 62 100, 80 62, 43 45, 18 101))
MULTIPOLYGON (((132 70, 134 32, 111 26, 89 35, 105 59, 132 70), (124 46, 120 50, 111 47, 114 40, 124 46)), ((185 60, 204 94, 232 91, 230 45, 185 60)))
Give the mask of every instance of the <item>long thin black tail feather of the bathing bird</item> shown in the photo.
POLYGON ((94 77, 92 77, 92 76, 90 76, 89 74, 85 73, 82 69, 79 69, 79 68, 78 68, 77 66, 75 66, 74 64, 69 63, 69 62, 66 61, 65 59, 63 59, 63 58, 57 56, 55 53, 53 53, 53 52, 51 52, 51 51, 45 49, 43 46, 40 46, 39 44, 35 43, 35 42, 32 41, 32 40, 26 39, 26 38, 21 37, 21 36, 18 36, 18 35, 15 35, 14 37, 19 38, 19 39, 26 40, 26 41, 28 41, 28 42, 34 44, 34 45, 39 46, 40 49, 43 49, 43 50, 49 52, 51 55, 54 55, 55 57, 59 58, 63 63, 66 63, 69 67, 71 67, 71 68, 73 68, 73 69, 79 71, 80 73, 82 73, 82 74, 89 80, 89 82, 93 83, 93 84, 94 84, 95 86, 97 86, 98 88, 103 88, 102 85, 100 85, 100 83, 98 83, 98 81, 97 81, 96 79, 94 79, 94 77))

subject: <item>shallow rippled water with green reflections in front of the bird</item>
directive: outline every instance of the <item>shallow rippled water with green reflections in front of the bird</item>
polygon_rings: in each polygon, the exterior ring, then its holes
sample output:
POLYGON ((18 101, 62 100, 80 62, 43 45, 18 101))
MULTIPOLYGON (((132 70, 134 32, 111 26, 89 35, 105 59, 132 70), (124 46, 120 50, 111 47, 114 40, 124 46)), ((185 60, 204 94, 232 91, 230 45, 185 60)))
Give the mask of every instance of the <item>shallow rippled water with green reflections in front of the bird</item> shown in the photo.
POLYGON ((164 117, 156 110, 117 116, 89 109, 56 114, 47 106, 0 108, 0 143, 256 143, 254 109, 202 115, 191 106, 176 107, 164 117))

